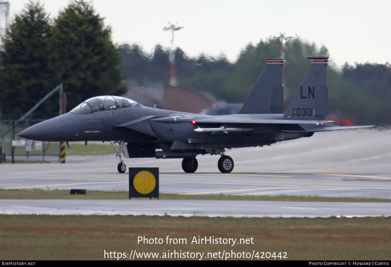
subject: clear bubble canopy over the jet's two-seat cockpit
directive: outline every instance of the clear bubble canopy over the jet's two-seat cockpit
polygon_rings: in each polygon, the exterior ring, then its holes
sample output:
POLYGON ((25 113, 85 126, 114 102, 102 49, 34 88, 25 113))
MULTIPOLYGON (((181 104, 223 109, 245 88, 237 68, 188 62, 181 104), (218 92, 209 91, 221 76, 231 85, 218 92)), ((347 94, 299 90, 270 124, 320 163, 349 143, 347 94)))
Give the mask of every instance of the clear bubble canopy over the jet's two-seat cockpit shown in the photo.
POLYGON ((136 101, 120 96, 96 96, 84 101, 70 112, 76 114, 88 114, 105 110, 134 107, 137 104, 138 103, 136 101))

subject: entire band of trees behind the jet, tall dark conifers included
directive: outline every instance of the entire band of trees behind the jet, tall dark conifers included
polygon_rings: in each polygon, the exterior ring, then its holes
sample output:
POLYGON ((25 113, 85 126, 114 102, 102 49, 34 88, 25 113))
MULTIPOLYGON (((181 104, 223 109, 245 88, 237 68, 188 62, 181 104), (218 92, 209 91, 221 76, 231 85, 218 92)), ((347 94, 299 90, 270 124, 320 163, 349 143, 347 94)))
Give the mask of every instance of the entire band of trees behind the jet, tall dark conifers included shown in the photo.
MULTIPOLYGON (((116 46, 111 29, 82 1, 72 1, 50 19, 43 6, 30 2, 15 16, 3 38, 0 51, 0 109, 3 114, 23 113, 62 83, 68 110, 83 100, 104 94, 120 95, 129 81, 138 84, 169 80, 169 48, 156 45, 148 53, 138 44, 116 46)), ((246 100, 265 67, 262 58, 279 58, 280 40, 267 38, 249 43, 235 62, 224 55, 201 53, 190 57, 175 50, 178 84, 189 90, 210 93, 219 100, 246 100)), ((311 61, 308 55, 329 55, 294 37, 284 43, 285 106, 291 100, 311 61)), ((345 64, 330 61, 327 85, 329 113, 339 122, 391 125, 391 66, 378 63, 345 64)), ((47 101, 38 112, 56 112, 55 101, 47 101)), ((330 117, 331 118, 331 117, 330 117)))

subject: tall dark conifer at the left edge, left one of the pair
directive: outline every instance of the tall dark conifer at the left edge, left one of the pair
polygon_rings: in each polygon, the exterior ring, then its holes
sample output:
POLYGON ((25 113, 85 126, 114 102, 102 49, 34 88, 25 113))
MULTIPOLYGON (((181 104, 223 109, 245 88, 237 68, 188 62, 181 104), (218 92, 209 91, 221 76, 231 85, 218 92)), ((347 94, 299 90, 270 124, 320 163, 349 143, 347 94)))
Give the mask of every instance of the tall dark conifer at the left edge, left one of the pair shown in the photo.
MULTIPOLYGON (((3 38, 1 113, 24 113, 54 88, 53 72, 48 66, 50 37, 48 14, 41 4, 29 2, 22 13, 15 16, 3 38)), ((36 112, 53 109, 53 103, 47 101, 36 112)))

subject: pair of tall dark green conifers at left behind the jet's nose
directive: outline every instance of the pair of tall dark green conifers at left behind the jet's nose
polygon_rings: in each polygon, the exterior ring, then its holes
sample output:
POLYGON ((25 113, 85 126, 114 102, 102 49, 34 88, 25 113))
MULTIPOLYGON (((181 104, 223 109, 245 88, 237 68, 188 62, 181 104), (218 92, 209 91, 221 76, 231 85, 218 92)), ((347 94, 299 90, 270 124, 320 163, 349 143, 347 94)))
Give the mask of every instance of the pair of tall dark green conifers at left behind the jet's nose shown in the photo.
MULTIPOLYGON (((39 2, 29 2, 2 41, 3 114, 28 111, 58 84, 71 109, 91 96, 125 91, 111 29, 87 2, 70 2, 53 20, 39 2)), ((45 101, 37 112, 57 110, 58 100, 45 101)))

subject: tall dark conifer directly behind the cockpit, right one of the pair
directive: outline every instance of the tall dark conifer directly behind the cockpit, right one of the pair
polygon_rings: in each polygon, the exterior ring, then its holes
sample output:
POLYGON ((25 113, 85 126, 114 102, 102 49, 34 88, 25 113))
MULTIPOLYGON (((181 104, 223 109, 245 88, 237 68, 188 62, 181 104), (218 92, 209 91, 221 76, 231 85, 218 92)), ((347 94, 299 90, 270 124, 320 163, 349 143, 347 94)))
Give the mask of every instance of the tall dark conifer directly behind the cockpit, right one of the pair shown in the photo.
POLYGON ((72 1, 59 12, 52 36, 52 65, 57 83, 64 85, 67 109, 93 96, 124 92, 117 65, 118 49, 111 29, 84 1, 72 1))

